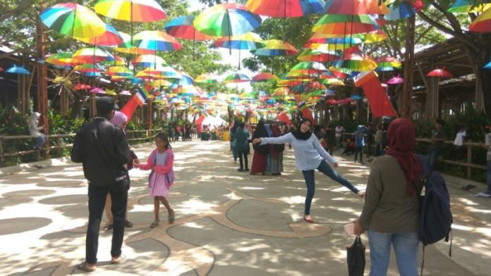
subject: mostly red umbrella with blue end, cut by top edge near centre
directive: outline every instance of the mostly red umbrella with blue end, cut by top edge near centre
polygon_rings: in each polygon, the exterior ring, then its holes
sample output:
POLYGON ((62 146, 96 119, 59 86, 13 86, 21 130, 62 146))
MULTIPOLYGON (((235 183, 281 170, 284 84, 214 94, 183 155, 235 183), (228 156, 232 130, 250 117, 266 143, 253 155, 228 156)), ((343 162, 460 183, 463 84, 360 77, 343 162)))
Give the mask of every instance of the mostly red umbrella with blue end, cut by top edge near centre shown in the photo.
POLYGON ((324 6, 322 0, 249 0, 247 2, 249 11, 274 18, 295 18, 319 13, 324 6))

